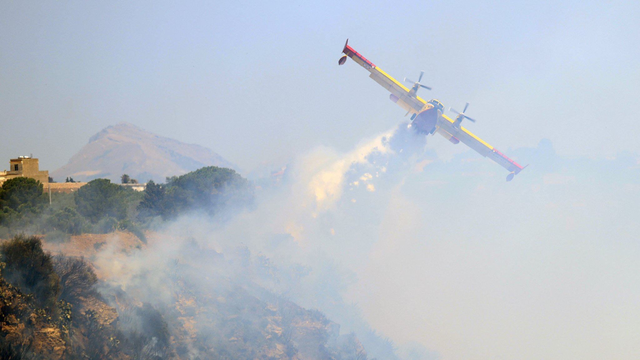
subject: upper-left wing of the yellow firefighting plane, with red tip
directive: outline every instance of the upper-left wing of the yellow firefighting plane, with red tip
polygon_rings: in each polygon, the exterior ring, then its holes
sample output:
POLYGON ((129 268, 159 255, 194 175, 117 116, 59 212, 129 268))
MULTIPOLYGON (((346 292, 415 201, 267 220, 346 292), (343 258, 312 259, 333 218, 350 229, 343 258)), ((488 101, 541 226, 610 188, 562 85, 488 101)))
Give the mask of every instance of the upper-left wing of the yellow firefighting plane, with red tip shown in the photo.
POLYGON ((348 45, 348 42, 349 39, 347 39, 347 42, 344 44, 342 53, 349 56, 349 58, 360 64, 360 66, 369 70, 369 72, 371 72, 369 78, 374 79, 376 83, 380 84, 391 93, 391 95, 389 95, 389 99, 391 99, 391 101, 396 102, 396 104, 401 106, 401 108, 411 113, 417 113, 422 109, 422 106, 427 103, 424 99, 419 96, 410 96, 409 89, 406 86, 399 83, 396 79, 392 78, 389 74, 380 69, 380 67, 377 67, 371 61, 367 60, 364 56, 355 51, 348 45))

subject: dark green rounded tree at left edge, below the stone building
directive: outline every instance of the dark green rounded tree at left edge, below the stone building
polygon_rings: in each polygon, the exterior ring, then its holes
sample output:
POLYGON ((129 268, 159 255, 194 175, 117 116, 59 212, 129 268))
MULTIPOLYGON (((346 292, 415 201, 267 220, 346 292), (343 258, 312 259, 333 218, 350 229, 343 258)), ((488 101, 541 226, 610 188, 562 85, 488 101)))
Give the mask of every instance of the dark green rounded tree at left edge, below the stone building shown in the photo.
POLYGON ((0 188, 0 208, 6 206, 17 210, 23 204, 37 208, 46 200, 42 193, 42 183, 31 177, 8 179, 0 188))

